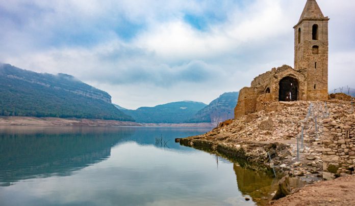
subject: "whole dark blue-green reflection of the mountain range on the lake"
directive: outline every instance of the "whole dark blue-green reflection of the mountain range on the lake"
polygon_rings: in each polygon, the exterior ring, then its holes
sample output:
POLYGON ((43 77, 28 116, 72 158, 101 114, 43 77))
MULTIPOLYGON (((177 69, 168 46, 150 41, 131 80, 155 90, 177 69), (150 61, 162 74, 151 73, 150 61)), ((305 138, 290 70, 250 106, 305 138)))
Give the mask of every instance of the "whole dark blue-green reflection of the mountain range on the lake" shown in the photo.
POLYGON ((156 138, 162 137, 168 141, 166 149, 192 151, 174 139, 208 130, 0 126, 0 186, 35 177, 70 175, 72 171, 107 159, 111 147, 125 141, 161 147, 156 145, 156 138))

